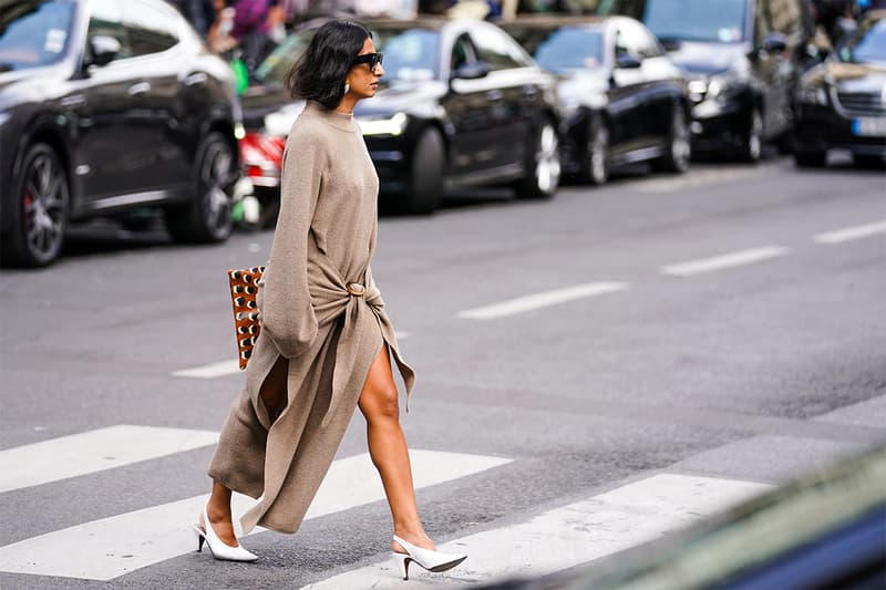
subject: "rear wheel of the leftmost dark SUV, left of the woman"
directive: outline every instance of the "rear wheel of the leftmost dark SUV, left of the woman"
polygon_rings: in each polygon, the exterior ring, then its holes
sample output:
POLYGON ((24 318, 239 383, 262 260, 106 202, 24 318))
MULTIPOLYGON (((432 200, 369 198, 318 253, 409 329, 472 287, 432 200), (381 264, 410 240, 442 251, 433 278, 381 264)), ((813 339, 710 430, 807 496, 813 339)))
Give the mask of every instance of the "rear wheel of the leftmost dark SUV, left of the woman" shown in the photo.
POLYGON ((198 154, 197 194, 190 204, 165 210, 166 228, 177 242, 225 241, 234 227, 230 215, 237 165, 234 146, 220 133, 210 133, 198 154))

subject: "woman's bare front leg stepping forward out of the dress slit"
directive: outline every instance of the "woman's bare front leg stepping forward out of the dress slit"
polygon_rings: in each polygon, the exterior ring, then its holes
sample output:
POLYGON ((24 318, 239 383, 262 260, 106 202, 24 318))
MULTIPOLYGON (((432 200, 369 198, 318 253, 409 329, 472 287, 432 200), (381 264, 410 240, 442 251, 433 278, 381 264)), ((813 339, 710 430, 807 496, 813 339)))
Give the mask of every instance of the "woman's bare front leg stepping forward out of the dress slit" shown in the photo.
MULTIPOLYGON (((400 427, 400 407, 396 385, 391 374, 388 344, 382 346, 369 369, 367 382, 360 393, 360 411, 367 418, 369 454, 379 469, 384 494, 388 496, 394 535, 419 547, 436 549, 419 519, 406 438, 400 427)), ((396 542, 392 541, 391 545, 394 551, 404 552, 396 542)))

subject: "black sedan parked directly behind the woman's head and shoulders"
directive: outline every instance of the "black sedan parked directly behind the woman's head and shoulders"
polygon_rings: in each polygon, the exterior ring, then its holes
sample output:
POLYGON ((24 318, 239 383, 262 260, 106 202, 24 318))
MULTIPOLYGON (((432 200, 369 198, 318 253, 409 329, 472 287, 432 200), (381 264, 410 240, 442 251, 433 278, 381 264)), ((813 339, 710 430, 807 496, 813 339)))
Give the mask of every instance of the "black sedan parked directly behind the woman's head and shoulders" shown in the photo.
MULTIPOLYGON (((483 21, 365 20, 384 54, 374 99, 354 110, 379 173, 382 199, 427 214, 444 188, 509 185, 518 197, 553 196, 560 155, 554 76, 499 28, 483 21)), ((284 136, 301 105, 284 77, 319 24, 285 40, 262 63, 261 87, 244 95, 250 132, 284 136)), ((272 142, 251 141, 247 167, 275 162, 272 142), (268 149, 253 149, 255 145, 268 149)), ((260 168, 260 166, 259 166, 260 168)), ((256 173, 258 169, 255 170, 256 173)), ((266 167, 268 185, 279 173, 266 167)))

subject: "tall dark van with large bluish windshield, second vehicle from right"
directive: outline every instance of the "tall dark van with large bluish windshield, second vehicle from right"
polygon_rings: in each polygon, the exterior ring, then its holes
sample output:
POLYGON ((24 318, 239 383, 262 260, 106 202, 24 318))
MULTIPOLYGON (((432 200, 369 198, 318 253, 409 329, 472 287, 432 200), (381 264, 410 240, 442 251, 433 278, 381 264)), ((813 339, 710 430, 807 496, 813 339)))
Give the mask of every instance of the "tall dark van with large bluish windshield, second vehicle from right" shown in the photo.
POLYGON ((639 17, 690 76, 692 139, 699 151, 760 159, 764 142, 786 145, 797 60, 805 46, 803 0, 606 1, 639 17), (638 7, 642 7, 638 10, 638 7))

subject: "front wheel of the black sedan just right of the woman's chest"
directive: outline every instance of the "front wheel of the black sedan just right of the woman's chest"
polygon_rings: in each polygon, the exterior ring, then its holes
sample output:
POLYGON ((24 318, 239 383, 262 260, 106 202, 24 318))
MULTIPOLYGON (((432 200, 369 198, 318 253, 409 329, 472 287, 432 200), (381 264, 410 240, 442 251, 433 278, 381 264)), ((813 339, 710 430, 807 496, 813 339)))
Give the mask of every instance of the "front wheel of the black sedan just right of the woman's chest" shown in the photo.
POLYGON ((404 196, 405 213, 430 215, 440 206, 445 164, 443 135, 436 127, 427 127, 415 142, 408 194, 404 196))

